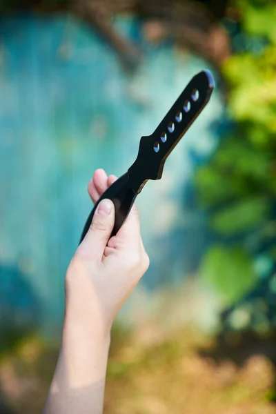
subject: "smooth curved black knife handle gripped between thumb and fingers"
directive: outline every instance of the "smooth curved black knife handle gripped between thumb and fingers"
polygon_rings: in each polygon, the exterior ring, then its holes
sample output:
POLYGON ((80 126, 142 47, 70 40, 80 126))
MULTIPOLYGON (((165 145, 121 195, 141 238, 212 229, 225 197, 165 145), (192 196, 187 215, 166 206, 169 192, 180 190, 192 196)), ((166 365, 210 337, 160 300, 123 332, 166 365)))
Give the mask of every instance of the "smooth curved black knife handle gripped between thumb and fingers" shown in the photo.
POLYGON ((115 225, 110 236, 112 237, 116 235, 118 230, 124 224, 124 221, 126 217, 128 217, 128 213, 130 212, 130 209, 132 208, 132 205, 136 197, 137 194, 129 186, 128 172, 126 172, 124 175, 119 177, 119 179, 117 179, 115 183, 108 187, 108 189, 101 195, 101 197, 95 204, 90 215, 88 216, 88 219, 86 220, 86 224, 83 228, 83 232, 81 234, 81 239, 79 243, 81 243, 84 237, 86 236, 86 233, 90 228, 92 218, 101 200, 110 199, 112 200, 115 206, 115 225))

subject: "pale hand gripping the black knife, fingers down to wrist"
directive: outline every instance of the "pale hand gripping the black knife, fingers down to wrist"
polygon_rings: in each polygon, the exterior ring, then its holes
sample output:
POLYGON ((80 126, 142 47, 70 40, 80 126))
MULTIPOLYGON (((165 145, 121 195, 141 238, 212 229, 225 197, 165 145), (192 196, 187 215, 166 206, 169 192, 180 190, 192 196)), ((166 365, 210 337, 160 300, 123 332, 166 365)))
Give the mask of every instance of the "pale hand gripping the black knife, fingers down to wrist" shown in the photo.
MULTIPOLYGON (((88 184, 92 201, 96 203, 116 179, 96 170, 88 184)), ((92 318, 101 332, 110 331, 119 309, 149 266, 137 208, 132 207, 117 235, 109 239, 114 221, 114 204, 102 200, 66 274, 66 304, 75 303, 79 318, 92 318)))

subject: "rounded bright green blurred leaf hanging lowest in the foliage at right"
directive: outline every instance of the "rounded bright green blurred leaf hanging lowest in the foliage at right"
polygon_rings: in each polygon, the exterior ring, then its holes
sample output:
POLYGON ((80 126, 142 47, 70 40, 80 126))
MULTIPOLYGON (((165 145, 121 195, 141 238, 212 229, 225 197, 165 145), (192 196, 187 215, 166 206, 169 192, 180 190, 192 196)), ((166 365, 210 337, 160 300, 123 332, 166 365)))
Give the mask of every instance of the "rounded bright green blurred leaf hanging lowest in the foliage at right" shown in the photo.
POLYGON ((201 263, 201 277, 231 303, 255 284, 249 255, 239 247, 213 246, 201 263))

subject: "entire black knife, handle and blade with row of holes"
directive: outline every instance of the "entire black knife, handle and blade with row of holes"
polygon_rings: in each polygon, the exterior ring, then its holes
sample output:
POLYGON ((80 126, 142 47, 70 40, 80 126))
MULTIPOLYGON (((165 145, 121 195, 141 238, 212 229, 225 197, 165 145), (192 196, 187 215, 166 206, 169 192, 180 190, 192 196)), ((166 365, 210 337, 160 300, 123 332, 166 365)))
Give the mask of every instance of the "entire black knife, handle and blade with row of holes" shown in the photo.
POLYGON ((88 232, 102 199, 111 199, 115 205, 115 226, 111 237, 116 235, 146 182, 161 179, 168 155, 204 109, 214 88, 215 81, 208 70, 202 70, 190 80, 155 131, 141 137, 132 166, 101 195, 86 220, 79 243, 88 232))

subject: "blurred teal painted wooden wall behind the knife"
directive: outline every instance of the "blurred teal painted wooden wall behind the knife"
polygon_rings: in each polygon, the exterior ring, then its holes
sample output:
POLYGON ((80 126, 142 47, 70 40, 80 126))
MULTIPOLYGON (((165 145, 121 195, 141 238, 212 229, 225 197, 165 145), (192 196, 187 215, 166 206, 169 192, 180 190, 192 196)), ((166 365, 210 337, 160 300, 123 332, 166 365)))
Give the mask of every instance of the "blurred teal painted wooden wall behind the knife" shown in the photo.
MULTIPOLYGON (((52 327, 63 316, 63 279, 91 208, 92 173, 100 167, 124 173, 141 135, 155 129, 190 77, 206 68, 169 44, 148 46, 134 19, 115 25, 144 50, 135 75, 126 76, 114 52, 67 17, 1 21, 0 262, 25 275, 41 303, 41 324, 52 327)), ((206 245, 204 217, 189 204, 187 189, 196 159, 217 144, 211 125, 222 113, 215 92, 170 155, 164 177, 138 197, 151 258, 148 288, 178 283, 206 245)))

